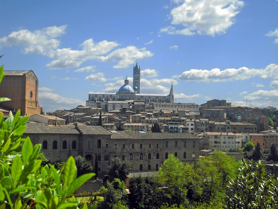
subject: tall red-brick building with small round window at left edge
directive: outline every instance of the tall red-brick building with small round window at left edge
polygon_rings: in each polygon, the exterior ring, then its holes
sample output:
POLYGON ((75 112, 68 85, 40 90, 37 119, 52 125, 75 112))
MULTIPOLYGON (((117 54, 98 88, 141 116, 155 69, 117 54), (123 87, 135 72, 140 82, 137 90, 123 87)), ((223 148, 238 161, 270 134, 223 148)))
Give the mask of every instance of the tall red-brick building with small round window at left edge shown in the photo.
POLYGON ((0 84, 0 97, 11 101, 1 102, 0 107, 12 112, 21 110, 21 115, 44 114, 39 105, 39 81, 33 71, 4 71, 0 84))

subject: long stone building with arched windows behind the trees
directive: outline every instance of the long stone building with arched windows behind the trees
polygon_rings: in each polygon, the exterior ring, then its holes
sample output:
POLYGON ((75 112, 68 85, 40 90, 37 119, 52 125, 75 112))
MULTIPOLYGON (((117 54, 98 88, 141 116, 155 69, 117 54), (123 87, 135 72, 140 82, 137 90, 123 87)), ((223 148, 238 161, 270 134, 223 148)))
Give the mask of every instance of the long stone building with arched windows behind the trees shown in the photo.
POLYGON ((94 162, 96 154, 99 176, 104 176, 114 157, 129 161, 132 172, 154 171, 170 154, 181 161, 199 158, 199 138, 184 133, 107 131, 101 126, 47 127, 28 122, 24 137, 41 143, 51 163, 66 161, 69 156, 84 156, 94 162))

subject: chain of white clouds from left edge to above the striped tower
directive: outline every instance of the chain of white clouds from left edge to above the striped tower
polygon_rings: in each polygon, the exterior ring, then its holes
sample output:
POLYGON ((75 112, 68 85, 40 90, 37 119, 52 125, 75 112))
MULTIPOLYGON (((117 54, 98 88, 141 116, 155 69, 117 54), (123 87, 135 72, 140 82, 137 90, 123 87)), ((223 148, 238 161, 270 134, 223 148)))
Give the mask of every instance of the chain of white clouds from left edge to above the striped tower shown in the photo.
MULTIPOLYGON (((80 45, 82 48, 81 50, 58 48, 60 46, 60 40, 56 38, 65 34, 66 27, 66 25, 60 27, 52 26, 33 32, 29 30, 13 31, 8 36, 0 38, 0 47, 20 45, 25 47, 23 49, 23 53, 25 54, 39 53, 53 58, 54 60, 46 64, 50 69, 79 67, 87 60, 118 62, 118 64, 113 66, 114 68, 127 68, 130 64, 134 63, 136 59, 144 59, 153 56, 153 53, 148 51, 145 47, 138 49, 135 46, 118 48, 110 52, 120 44, 107 40, 95 43, 92 38, 85 40, 80 45)), ((84 71, 87 70, 84 69, 84 71)))

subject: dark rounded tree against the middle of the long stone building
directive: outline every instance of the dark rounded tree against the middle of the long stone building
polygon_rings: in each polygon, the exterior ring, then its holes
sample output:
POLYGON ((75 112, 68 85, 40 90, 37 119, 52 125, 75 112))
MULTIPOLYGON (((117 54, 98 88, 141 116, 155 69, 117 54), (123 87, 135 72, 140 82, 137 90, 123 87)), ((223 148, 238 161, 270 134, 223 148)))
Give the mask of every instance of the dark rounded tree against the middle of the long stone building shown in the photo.
POLYGON ((128 161, 120 161, 117 157, 114 158, 111 161, 111 165, 108 166, 108 176, 110 179, 118 178, 121 181, 125 181, 129 172, 131 172, 131 164, 128 161))

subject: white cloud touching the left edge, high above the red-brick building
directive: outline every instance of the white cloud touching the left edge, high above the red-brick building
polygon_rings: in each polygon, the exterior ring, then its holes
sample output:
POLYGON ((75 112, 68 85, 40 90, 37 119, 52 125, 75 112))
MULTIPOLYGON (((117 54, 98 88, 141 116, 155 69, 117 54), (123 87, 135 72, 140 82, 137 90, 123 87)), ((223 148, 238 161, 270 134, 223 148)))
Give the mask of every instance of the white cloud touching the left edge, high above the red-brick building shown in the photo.
POLYGON ((13 31, 8 36, 0 38, 1 46, 25 46, 22 50, 24 54, 39 53, 49 55, 60 45, 60 40, 55 39, 64 35, 67 25, 51 26, 43 28, 42 30, 34 30, 31 32, 26 29, 13 31))

